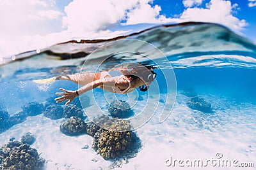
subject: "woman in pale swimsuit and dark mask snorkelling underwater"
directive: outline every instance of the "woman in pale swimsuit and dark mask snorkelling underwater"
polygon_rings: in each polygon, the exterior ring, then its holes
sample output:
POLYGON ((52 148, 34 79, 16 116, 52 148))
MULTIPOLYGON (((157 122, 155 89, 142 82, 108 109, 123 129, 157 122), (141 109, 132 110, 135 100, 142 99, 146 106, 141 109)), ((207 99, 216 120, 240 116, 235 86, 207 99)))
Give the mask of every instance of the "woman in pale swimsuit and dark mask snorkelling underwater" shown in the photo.
POLYGON ((101 73, 77 73, 60 76, 56 78, 56 80, 70 80, 82 85, 83 87, 76 91, 60 88, 63 92, 58 92, 56 94, 62 96, 55 100, 57 103, 67 101, 66 104, 69 104, 77 96, 84 92, 88 92, 88 90, 95 89, 96 87, 118 94, 127 94, 137 87, 139 87, 141 91, 145 92, 157 75, 151 66, 124 69, 120 72, 122 75, 114 77, 112 77, 108 71, 101 73))

